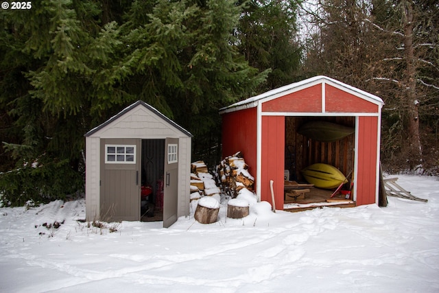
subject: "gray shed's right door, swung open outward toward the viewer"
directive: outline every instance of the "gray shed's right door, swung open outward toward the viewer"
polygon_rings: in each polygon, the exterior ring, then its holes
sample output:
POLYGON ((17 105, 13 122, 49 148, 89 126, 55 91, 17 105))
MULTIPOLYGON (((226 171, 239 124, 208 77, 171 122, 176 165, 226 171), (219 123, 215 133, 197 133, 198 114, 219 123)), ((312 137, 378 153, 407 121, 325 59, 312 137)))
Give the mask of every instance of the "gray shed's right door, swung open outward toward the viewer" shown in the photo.
POLYGON ((178 139, 165 141, 165 188, 163 195, 163 227, 177 220, 178 208, 178 139))

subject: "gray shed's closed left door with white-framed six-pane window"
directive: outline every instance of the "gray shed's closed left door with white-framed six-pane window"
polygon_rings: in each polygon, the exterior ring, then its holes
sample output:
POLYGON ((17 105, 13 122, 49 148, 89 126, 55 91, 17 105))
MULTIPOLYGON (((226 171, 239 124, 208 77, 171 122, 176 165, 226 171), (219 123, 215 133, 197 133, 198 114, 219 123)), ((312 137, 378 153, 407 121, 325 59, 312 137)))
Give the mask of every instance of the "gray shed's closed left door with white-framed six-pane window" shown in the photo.
POLYGON ((101 139, 100 220, 140 220, 140 139, 101 139))

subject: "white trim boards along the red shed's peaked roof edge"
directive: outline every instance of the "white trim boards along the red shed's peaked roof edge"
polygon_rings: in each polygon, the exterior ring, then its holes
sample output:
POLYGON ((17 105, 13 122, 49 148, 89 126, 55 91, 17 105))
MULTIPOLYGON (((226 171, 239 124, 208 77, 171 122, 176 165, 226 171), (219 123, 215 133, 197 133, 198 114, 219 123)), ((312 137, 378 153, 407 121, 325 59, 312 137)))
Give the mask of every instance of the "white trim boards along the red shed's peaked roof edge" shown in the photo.
POLYGON ((371 93, 362 91, 361 89, 357 89, 348 84, 344 84, 343 82, 334 80, 333 78, 328 78, 324 75, 318 75, 313 78, 308 78, 307 80, 301 80, 300 82, 294 82, 286 86, 281 86, 277 89, 272 89, 271 91, 261 93, 261 95, 255 95, 254 97, 249 97, 248 99, 244 99, 241 102, 237 102, 235 104, 231 104, 230 106, 220 108, 219 114, 235 112, 237 110, 243 110, 247 108, 254 108, 261 102, 267 102, 271 99, 276 99, 277 97, 281 97, 289 93, 294 93, 296 91, 300 91, 302 89, 306 89, 310 86, 314 86, 320 83, 329 84, 336 87, 337 89, 352 93, 353 95, 360 96, 361 98, 380 106, 384 104, 383 100, 376 95, 372 95, 371 93))

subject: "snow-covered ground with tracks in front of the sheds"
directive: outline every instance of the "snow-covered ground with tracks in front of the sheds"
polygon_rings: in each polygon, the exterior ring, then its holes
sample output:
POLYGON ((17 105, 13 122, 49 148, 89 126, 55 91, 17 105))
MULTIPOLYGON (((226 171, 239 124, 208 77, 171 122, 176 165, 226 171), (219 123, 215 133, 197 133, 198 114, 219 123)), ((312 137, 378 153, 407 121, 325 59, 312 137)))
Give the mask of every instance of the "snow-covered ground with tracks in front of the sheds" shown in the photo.
POLYGON ((192 214, 170 228, 89 226, 84 200, 0 208, 0 292, 439 292, 438 178, 397 177, 428 202, 300 213, 265 202, 242 220, 222 207, 215 224, 192 214))

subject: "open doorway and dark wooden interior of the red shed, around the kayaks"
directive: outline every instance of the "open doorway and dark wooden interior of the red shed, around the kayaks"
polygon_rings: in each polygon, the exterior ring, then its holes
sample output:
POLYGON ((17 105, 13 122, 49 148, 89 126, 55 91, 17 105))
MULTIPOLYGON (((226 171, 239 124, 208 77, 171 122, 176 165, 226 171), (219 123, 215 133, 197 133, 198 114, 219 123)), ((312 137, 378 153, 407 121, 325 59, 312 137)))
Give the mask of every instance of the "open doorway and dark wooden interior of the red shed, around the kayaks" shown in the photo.
POLYGON ((337 141, 322 142, 298 132, 301 126, 310 121, 327 121, 355 130, 355 117, 285 117, 285 204, 325 204, 337 200, 353 202, 351 183, 353 183, 355 161, 355 132, 337 141), (331 198, 335 189, 301 187, 309 191, 304 194, 294 194, 296 196, 293 197, 287 181, 299 185, 309 184, 301 170, 315 163, 324 163, 339 169, 348 180, 348 183, 342 187, 346 191, 331 198), (348 194, 347 191, 350 193, 348 194))

